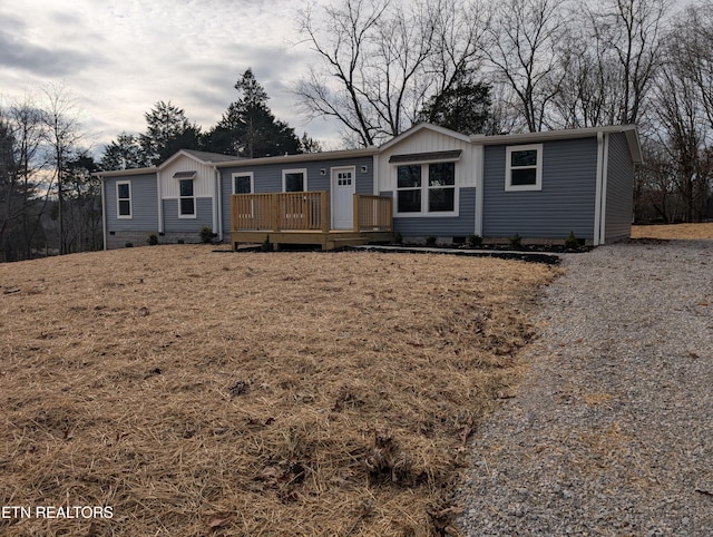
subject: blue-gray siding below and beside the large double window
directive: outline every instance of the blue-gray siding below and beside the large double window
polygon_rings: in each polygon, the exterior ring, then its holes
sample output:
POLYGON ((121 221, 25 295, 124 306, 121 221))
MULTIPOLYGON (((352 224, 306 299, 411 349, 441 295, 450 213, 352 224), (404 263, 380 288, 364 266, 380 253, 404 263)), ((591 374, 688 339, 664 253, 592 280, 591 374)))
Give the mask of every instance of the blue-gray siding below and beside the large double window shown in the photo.
MULTIPOLYGON (((382 192, 382 196, 392 196, 382 192)), ((458 216, 414 216, 393 218, 394 233, 404 237, 467 237, 476 230, 476 189, 460 188, 458 216)))

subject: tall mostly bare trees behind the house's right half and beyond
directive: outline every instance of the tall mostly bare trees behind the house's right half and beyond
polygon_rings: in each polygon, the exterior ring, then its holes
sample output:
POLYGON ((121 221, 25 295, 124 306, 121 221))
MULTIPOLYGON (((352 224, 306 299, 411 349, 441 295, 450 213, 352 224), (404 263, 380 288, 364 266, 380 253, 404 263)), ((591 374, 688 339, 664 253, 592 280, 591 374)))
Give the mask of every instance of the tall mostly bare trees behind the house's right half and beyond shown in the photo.
POLYGON ((302 110, 369 146, 419 120, 466 134, 636 124, 637 221, 711 216, 713 0, 340 0, 301 11, 302 110))

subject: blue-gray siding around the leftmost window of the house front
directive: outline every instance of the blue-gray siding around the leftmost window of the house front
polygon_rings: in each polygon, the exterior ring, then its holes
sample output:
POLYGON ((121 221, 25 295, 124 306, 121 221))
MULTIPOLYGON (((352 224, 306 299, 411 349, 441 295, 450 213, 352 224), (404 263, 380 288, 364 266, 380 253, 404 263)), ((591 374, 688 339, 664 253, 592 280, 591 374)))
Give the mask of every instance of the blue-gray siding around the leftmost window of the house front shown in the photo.
POLYGON ((111 177, 104 180, 107 232, 156 232, 158 230, 158 188, 156 175, 111 177), (131 217, 117 218, 116 184, 131 184, 131 217))

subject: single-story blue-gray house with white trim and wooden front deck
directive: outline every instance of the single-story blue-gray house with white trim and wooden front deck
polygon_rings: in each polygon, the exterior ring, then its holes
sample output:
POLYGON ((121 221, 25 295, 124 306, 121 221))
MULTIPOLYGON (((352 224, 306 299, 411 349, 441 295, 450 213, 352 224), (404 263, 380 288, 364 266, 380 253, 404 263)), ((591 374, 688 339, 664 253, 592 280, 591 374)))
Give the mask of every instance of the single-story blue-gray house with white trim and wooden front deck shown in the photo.
POLYGON ((470 235, 599 245, 629 236, 635 126, 467 136, 419 124, 380 147, 238 158, 180 150, 101 172, 105 247, 197 242, 340 244, 470 235))

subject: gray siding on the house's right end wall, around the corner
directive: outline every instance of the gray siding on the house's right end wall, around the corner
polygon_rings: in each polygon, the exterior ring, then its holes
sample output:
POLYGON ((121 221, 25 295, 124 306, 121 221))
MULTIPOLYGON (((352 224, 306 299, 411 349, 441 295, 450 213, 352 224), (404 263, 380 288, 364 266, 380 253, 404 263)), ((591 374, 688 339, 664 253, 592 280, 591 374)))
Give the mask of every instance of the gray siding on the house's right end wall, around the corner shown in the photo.
POLYGON ((609 137, 609 158, 606 185, 605 242, 628 238, 634 211, 634 163, 626 135, 609 137))

